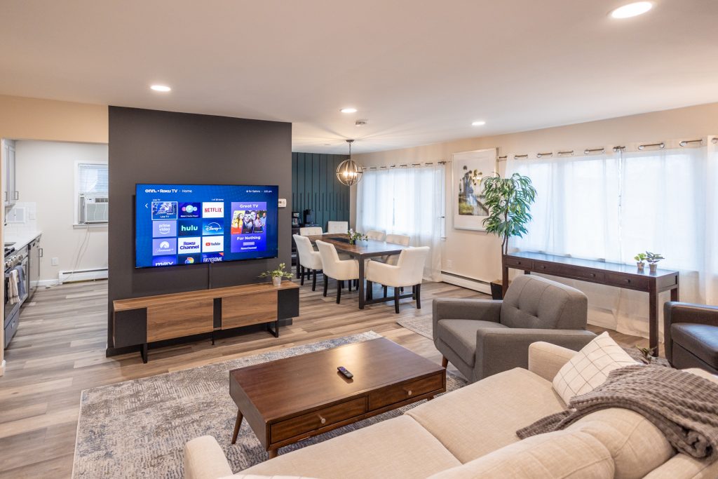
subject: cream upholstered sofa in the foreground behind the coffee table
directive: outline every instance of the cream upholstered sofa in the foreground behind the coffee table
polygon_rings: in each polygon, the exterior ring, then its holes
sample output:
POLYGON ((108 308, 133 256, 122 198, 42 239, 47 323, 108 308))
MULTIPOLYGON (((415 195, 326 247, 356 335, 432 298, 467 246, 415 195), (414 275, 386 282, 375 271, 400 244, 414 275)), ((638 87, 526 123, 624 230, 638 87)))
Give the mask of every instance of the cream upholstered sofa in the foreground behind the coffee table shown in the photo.
POLYGON ((653 424, 628 409, 597 411, 562 431, 519 440, 516 429, 565 409, 551 380, 575 353, 533 343, 528 370, 498 373, 237 475, 213 437, 197 437, 185 446, 185 478, 718 478, 718 462, 676 454, 653 424))

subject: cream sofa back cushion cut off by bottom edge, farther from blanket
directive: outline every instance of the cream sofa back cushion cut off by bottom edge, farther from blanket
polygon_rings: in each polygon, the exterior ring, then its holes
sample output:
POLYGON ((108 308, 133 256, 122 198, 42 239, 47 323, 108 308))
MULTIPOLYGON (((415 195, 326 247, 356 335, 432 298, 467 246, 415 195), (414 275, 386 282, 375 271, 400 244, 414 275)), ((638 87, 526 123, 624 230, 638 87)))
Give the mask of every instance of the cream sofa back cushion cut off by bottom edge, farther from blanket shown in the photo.
POLYGON ((429 479, 612 479, 613 461, 590 434, 555 431, 529 437, 429 479))

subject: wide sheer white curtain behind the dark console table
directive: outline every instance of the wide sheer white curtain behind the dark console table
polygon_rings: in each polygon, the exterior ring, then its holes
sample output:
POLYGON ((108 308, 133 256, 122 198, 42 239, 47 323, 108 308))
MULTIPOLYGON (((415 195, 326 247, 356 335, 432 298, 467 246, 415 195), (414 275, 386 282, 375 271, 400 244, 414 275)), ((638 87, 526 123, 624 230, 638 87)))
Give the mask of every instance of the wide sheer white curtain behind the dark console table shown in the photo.
MULTIPOLYGON (((681 272, 681 300, 716 304, 718 152, 710 140, 701 147, 510 160, 507 172, 531 177, 538 190, 528 235, 511 246, 628 264, 639 252, 661 253, 660 267, 681 272)), ((588 295, 593 324, 648 334, 645 294, 560 281, 588 295)))

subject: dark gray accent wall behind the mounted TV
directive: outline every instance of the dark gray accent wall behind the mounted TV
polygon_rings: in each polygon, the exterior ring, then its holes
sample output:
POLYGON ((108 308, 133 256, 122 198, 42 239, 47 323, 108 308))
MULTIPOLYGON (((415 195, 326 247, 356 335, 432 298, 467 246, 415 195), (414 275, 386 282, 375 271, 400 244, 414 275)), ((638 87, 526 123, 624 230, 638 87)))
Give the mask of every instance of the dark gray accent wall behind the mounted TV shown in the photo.
POLYGON ((292 124, 139 108, 109 108, 108 354, 115 299, 206 289, 208 264, 135 269, 136 183, 279 185, 279 259, 216 263, 212 287, 249 284, 290 264, 292 124))

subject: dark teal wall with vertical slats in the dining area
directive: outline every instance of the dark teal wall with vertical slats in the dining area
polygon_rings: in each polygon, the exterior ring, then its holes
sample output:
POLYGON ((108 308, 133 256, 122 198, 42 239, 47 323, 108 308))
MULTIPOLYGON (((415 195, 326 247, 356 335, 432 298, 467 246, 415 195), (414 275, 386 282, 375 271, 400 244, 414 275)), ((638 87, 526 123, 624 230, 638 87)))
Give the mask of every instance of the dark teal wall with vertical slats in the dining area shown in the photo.
POLYGON ((293 210, 314 210, 314 222, 325 231, 327 221, 349 220, 349 187, 336 175, 337 166, 347 158, 343 154, 292 153, 293 210))

